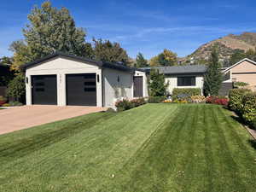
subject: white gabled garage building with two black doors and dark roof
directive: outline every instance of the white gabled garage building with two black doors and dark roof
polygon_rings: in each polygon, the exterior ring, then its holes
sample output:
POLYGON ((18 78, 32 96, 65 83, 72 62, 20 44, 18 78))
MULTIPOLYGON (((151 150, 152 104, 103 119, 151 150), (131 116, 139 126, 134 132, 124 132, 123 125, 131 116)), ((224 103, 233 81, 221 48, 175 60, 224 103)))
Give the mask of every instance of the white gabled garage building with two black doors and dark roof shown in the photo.
POLYGON ((56 52, 25 64, 26 104, 113 107, 148 96, 146 73, 121 64, 56 52))

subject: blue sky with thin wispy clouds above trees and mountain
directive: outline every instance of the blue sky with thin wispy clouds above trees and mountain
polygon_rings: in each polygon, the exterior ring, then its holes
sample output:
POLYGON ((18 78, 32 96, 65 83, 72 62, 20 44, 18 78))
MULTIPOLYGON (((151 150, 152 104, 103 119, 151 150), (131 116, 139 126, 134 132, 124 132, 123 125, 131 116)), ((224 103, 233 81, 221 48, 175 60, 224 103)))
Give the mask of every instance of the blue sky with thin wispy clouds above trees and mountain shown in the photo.
MULTIPOLYGON (((44 1, 9 0, 0 4, 0 55, 12 55, 9 44, 21 39, 21 29, 33 5, 44 1)), ((256 1, 52 0, 70 10, 77 26, 92 37, 119 42, 128 55, 146 58, 162 49, 189 55, 201 44, 230 33, 256 32, 256 1)))

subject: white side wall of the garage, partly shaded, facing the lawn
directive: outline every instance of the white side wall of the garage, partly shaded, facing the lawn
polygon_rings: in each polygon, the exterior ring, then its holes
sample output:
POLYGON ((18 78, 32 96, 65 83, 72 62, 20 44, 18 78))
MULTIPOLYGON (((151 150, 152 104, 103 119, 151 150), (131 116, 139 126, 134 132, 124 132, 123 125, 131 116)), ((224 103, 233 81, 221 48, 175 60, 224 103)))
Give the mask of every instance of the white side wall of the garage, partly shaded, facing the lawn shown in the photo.
POLYGON ((119 99, 133 98, 133 73, 104 68, 102 77, 104 107, 113 108, 119 99))

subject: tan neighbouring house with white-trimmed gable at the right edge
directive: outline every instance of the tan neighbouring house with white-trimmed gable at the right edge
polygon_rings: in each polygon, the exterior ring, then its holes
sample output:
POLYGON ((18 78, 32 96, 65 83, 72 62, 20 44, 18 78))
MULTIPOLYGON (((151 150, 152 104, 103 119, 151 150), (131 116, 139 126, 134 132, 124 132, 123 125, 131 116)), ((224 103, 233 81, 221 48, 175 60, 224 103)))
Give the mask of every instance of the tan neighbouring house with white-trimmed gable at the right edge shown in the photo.
POLYGON ((224 83, 245 82, 249 87, 256 90, 256 62, 247 58, 236 64, 224 68, 224 83))

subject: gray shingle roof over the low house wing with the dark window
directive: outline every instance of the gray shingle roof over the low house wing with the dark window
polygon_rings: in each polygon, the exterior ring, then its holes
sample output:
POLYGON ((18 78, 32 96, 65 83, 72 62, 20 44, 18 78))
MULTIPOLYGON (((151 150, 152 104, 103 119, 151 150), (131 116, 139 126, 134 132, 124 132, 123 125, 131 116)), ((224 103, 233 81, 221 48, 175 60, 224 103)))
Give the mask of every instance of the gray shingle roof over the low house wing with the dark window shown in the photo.
POLYGON ((172 67, 144 67, 143 70, 149 72, 151 68, 156 68, 160 73, 164 74, 186 74, 186 73, 206 73, 207 67, 203 65, 190 65, 190 66, 172 66, 172 67))

